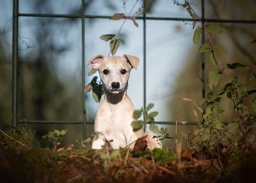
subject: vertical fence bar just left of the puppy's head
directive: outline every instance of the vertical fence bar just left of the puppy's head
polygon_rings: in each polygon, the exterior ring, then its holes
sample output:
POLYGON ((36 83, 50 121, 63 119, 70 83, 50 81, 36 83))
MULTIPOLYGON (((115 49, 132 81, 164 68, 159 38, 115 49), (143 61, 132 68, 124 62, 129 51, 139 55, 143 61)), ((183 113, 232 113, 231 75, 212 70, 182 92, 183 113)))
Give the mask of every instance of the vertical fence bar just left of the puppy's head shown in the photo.
POLYGON ((85 108, 85 54, 84 54, 84 0, 82 0, 82 12, 81 12, 81 23, 82 23, 82 94, 83 94, 83 138, 86 138, 86 108, 85 108))

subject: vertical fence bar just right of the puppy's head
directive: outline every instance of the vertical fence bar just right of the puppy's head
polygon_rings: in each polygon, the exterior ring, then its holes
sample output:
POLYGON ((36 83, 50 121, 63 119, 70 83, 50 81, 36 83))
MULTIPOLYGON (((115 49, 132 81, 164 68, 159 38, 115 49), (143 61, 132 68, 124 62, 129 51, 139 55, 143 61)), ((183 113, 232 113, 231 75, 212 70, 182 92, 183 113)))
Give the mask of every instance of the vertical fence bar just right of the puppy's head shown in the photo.
MULTIPOLYGON (((144 11, 143 11, 143 108, 146 108, 146 105, 147 105, 146 11, 147 11, 147 4, 144 3, 144 11)), ((146 131, 146 126, 144 126, 144 131, 146 131)))

